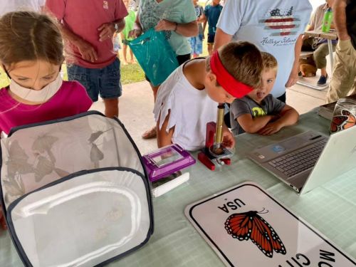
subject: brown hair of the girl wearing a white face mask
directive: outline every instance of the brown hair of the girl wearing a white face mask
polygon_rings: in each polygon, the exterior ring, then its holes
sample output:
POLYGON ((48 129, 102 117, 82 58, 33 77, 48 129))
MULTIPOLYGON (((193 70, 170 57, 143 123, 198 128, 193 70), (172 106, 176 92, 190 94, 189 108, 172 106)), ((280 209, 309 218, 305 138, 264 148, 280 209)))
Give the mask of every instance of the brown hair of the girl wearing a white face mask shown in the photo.
POLYGON ((63 41, 56 21, 31 11, 10 12, 0 18, 0 62, 43 60, 61 65, 63 41))

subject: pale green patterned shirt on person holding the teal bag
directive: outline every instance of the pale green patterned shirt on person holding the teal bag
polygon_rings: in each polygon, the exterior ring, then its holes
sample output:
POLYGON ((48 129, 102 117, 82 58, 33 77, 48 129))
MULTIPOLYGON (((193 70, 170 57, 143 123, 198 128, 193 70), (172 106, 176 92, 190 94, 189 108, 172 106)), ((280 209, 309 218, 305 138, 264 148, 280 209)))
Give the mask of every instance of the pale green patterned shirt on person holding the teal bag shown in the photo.
MULTIPOLYGON (((154 28, 160 19, 189 23, 197 21, 197 15, 191 0, 163 0, 160 3, 157 3, 157 0, 141 0, 139 19, 145 32, 149 28, 154 28)), ((191 52, 187 37, 175 31, 165 31, 165 36, 177 55, 186 55, 191 52)))

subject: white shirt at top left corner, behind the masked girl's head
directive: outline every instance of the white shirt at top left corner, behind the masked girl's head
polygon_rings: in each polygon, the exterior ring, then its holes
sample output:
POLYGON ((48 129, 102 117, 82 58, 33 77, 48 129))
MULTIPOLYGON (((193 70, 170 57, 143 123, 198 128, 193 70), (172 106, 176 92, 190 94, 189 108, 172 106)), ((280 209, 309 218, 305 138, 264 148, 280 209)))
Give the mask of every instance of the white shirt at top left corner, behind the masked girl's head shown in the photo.
POLYGON ((12 11, 40 11, 46 0, 1 0, 0 16, 12 11))

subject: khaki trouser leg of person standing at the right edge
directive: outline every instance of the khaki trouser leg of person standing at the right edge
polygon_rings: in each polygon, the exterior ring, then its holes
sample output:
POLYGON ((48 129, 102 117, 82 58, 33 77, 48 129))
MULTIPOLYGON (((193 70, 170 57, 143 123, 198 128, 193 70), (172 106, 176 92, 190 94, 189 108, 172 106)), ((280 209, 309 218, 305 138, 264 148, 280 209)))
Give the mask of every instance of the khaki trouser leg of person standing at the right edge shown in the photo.
POLYGON ((356 50, 350 40, 338 41, 334 61, 326 103, 356 93, 356 50))

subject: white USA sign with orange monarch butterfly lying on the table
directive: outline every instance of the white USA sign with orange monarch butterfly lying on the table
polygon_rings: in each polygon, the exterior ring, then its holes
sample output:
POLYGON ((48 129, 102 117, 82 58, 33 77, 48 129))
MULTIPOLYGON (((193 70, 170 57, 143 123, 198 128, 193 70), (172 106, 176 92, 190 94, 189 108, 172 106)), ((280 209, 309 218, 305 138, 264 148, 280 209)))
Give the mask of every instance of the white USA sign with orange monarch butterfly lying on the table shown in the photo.
POLYGON ((313 226, 252 182, 196 201, 185 214, 226 266, 356 266, 313 226))

